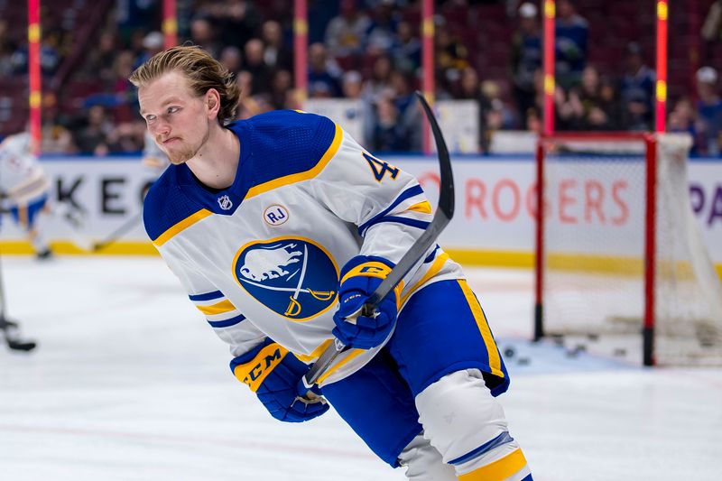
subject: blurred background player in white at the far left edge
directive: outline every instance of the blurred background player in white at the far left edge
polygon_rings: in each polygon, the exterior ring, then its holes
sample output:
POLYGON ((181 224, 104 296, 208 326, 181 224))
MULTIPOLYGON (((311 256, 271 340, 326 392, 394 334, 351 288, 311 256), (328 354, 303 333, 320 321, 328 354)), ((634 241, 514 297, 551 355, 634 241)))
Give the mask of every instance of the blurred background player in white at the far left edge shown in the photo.
MULTIPOLYGON (((51 256, 44 228, 53 215, 61 217, 73 229, 82 225, 81 213, 64 203, 51 203, 51 183, 32 153, 28 133, 8 135, 0 143, 0 194, 3 208, 27 233, 39 258, 51 256)), ((74 240, 79 240, 75 238, 74 240)), ((83 242, 82 245, 86 245, 83 242)))

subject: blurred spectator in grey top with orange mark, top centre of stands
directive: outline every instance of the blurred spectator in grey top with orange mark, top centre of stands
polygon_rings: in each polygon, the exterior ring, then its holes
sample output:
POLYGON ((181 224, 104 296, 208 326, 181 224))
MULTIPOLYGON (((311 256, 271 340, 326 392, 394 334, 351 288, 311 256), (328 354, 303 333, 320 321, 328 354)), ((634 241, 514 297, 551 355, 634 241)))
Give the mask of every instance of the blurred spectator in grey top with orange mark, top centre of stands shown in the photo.
POLYGON ((332 57, 360 55, 364 52, 366 32, 371 27, 368 16, 358 10, 356 0, 341 0, 339 14, 326 27, 324 43, 332 57))

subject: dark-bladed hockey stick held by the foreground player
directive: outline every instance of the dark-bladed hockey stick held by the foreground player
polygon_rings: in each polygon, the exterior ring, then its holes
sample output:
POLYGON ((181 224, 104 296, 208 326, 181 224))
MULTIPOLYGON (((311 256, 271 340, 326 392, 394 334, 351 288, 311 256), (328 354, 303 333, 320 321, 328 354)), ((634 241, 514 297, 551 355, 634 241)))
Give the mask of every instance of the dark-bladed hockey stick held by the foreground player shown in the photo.
MULTIPOLYGON (((393 288, 401 282, 403 276, 409 273, 413 265, 419 262, 421 256, 426 253, 431 245, 436 242, 441 231, 444 227, 449 224, 449 220, 454 216, 454 177, 453 171, 451 171, 451 161, 449 160, 449 151, 447 150, 446 143, 444 142, 444 136, 441 134, 439 124, 436 122, 433 112, 423 94, 416 91, 416 97, 419 98, 421 106, 423 107, 426 118, 429 119, 431 125, 431 132, 434 134, 434 142, 436 143, 436 149, 439 151, 439 171, 440 171, 440 190, 439 190, 439 206, 436 209, 434 217, 431 219, 429 227, 416 239, 416 242, 409 248, 406 254, 391 270, 388 276, 383 282, 379 284, 376 290, 371 294, 360 310, 355 312, 348 319, 348 322, 355 323, 358 316, 374 317, 376 307, 386 297, 393 288)), ((303 384, 308 389, 316 384, 321 375, 324 375, 329 369, 329 366, 333 364, 339 354, 346 350, 346 346, 338 340, 334 339, 333 344, 329 345, 325 351, 319 356, 319 360, 310 368, 309 372, 303 376, 303 384)), ((315 399, 318 396, 315 393, 309 391, 306 393, 307 399, 315 399)))

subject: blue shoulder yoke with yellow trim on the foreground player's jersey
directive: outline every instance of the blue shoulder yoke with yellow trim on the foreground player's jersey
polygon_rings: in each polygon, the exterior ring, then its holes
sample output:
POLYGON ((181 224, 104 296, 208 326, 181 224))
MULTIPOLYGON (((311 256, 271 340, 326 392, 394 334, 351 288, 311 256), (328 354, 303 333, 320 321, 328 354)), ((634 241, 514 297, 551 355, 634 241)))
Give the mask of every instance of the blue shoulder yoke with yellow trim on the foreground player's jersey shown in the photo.
POLYGON ((310 179, 341 142, 329 118, 292 110, 268 112, 227 125, 241 145, 238 171, 226 190, 203 188, 186 164, 171 165, 145 198, 143 223, 155 245, 210 214, 231 215, 244 199, 310 179))

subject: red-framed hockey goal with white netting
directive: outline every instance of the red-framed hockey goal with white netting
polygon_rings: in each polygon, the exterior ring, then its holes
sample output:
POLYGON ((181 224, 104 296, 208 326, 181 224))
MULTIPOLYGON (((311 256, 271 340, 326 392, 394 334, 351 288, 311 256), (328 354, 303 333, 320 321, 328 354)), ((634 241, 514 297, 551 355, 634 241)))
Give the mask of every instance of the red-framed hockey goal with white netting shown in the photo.
POLYGON ((690 143, 542 137, 535 338, 644 365, 722 365, 722 287, 690 206, 690 143))

